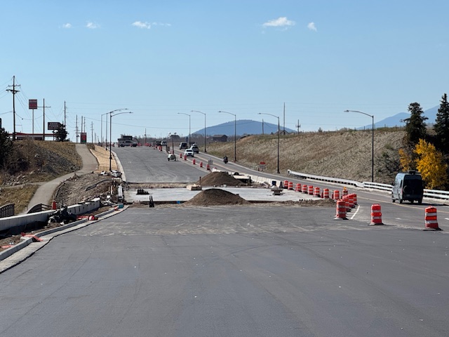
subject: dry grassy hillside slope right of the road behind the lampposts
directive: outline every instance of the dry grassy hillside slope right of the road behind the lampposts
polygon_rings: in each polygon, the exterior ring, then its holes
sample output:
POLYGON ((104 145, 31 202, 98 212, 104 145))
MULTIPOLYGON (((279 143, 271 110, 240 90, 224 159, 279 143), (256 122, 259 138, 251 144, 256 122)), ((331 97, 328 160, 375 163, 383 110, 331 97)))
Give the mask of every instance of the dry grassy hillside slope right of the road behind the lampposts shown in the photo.
MULTIPOLYGON (((398 171, 398 149, 403 131, 375 131, 374 180, 391 183, 398 171)), ((300 133, 281 136, 279 169, 302 173, 344 178, 357 181, 371 180, 371 131, 332 131, 300 133)), ((267 170, 276 173, 277 136, 248 136, 237 140, 237 161, 243 166, 257 169, 260 161, 267 170)), ((213 143, 208 152, 229 160, 234 159, 234 142, 213 143)))

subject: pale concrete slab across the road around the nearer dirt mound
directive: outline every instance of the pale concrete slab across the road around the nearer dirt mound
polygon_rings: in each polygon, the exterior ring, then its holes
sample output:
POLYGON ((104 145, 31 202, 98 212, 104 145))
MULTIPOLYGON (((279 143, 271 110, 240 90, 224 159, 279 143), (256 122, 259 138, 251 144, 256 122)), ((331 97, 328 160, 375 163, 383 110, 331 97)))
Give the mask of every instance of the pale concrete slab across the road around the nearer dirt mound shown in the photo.
MULTIPOLYGON (((320 199, 309 194, 295 192, 292 190, 283 190, 281 195, 274 195, 269 188, 251 188, 251 187, 203 187, 203 190, 210 188, 220 188, 234 194, 239 194, 248 201, 300 201, 308 199, 320 199)), ((149 196, 153 197, 154 202, 176 202, 188 201, 201 191, 187 190, 187 188, 147 188, 144 189, 149 194, 137 194, 137 189, 125 191, 125 199, 128 203, 149 201, 149 196)))

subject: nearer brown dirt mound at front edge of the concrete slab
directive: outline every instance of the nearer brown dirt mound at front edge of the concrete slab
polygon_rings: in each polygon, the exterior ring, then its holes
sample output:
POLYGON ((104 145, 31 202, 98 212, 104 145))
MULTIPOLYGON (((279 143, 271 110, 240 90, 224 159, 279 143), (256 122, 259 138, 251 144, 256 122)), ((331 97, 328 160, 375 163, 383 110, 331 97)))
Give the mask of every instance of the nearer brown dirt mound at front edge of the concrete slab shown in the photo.
POLYGON ((219 188, 211 188, 203 190, 196 194, 195 197, 186 201, 182 205, 186 206, 220 206, 220 205, 247 205, 250 204, 239 195, 220 190, 219 188))

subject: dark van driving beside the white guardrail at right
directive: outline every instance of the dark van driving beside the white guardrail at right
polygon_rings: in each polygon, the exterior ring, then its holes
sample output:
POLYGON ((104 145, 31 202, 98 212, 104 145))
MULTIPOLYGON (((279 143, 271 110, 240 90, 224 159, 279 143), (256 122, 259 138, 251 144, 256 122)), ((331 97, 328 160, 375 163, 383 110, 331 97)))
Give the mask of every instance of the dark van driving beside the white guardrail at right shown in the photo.
POLYGON ((412 170, 396 174, 391 189, 391 201, 399 200, 399 204, 402 204, 403 200, 408 200, 411 203, 417 201, 418 204, 422 204, 423 194, 424 185, 420 173, 412 170))

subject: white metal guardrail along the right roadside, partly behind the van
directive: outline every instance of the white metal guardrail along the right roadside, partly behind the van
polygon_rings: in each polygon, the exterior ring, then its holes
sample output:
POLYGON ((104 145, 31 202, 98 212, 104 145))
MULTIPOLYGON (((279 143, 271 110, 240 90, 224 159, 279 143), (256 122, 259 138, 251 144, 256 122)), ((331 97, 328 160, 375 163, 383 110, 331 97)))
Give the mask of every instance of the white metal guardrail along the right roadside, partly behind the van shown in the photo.
MULTIPOLYGON (((313 174, 300 173, 300 172, 295 172, 295 171, 291 171, 291 170, 288 170, 288 174, 290 174, 290 176, 296 176, 297 178, 321 180, 321 181, 327 181, 329 183, 337 183, 337 184, 343 184, 343 185, 353 185, 356 187, 370 188, 373 190, 382 190, 382 191, 386 191, 386 192, 391 192, 391 188, 393 188, 393 186, 389 185, 389 184, 371 183, 368 181, 363 181, 362 183, 360 183, 355 180, 314 176, 313 174)), ((424 189, 424 197, 433 198, 433 199, 449 200, 449 191, 424 189)))

